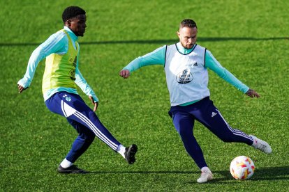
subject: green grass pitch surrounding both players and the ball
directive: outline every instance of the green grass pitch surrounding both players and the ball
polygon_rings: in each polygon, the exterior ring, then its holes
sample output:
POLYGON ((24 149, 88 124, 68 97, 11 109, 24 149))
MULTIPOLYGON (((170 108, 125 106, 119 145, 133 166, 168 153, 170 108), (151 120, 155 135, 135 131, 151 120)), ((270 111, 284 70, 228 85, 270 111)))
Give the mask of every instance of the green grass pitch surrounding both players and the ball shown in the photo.
POLYGON ((0 7, 0 191, 289 191, 289 1, 14 0, 1 1, 0 7), (76 163, 90 174, 59 175, 57 166, 77 134, 43 102, 44 61, 31 87, 17 93, 31 52, 62 29, 61 13, 71 5, 87 11, 80 70, 100 99, 97 115, 121 143, 138 145, 132 166, 96 139, 76 163), (198 44, 261 95, 246 97, 209 72, 214 104, 232 127, 273 149, 267 155, 223 143, 196 123, 195 137, 215 177, 207 184, 197 184, 200 170, 168 116, 161 65, 143 67, 129 79, 118 75, 133 58, 177 42, 185 18, 197 22, 198 44), (256 166, 243 182, 229 171, 239 155, 256 166))

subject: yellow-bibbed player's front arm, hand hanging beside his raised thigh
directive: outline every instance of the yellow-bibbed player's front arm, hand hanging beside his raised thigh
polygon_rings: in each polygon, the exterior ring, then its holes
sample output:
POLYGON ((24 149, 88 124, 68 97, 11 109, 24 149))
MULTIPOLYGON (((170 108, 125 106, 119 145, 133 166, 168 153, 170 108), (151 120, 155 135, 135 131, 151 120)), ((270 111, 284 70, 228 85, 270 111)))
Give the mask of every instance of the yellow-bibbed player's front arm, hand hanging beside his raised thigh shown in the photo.
MULTIPOLYGON (((77 58, 79 58, 77 56, 77 58)), ((91 100, 92 104, 94 105, 94 111, 96 111, 98 107, 98 97, 96 97, 96 94, 94 93, 94 90, 89 86, 87 81, 84 79, 82 76, 79 68, 78 68, 78 59, 77 59, 77 64, 75 68, 75 83, 77 86, 80 87, 80 89, 85 93, 87 96, 89 96, 89 99, 91 100)))

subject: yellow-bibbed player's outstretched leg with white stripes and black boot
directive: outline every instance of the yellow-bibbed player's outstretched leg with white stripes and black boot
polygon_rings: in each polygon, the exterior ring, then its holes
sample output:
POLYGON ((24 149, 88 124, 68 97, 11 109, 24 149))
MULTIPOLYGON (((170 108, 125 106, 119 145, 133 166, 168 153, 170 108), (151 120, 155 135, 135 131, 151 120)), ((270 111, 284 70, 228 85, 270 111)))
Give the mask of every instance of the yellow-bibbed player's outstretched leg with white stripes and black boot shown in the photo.
POLYGON ((89 128, 101 141, 110 146, 112 150, 119 152, 128 163, 135 161, 135 153, 138 147, 136 145, 131 145, 130 147, 121 145, 119 141, 110 134, 108 129, 102 125, 94 111, 84 103, 79 95, 66 92, 55 93, 45 101, 45 104, 50 111, 75 120, 89 128))

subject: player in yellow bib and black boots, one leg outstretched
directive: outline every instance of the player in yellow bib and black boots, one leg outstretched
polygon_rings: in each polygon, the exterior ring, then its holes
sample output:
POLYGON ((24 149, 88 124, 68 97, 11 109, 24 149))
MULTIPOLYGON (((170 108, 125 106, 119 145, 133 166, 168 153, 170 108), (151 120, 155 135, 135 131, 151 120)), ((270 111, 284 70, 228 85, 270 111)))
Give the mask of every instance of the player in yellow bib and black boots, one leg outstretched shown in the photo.
POLYGON ((18 81, 19 93, 29 88, 38 63, 46 58, 43 75, 43 97, 47 108, 53 113, 64 116, 76 129, 78 136, 70 152, 58 167, 59 173, 87 173, 73 165, 97 136, 115 152, 119 152, 128 163, 135 162, 137 145, 124 147, 106 129, 94 113, 98 98, 79 70, 78 58, 80 45, 77 40, 83 36, 87 27, 86 12, 77 6, 70 6, 62 13, 64 29, 50 36, 37 47, 29 59, 24 77, 18 81), (77 93, 77 86, 88 95, 94 110, 84 103, 77 93))

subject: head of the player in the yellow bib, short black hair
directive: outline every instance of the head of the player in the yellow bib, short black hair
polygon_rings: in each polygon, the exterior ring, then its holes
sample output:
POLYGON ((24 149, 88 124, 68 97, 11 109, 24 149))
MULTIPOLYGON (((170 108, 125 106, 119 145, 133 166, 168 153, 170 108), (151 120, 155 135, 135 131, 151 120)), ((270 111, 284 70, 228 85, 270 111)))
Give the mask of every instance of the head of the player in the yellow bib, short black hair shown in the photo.
POLYGON ((83 36, 87 27, 85 10, 77 6, 70 6, 62 13, 62 21, 77 36, 83 36))

